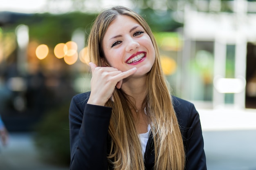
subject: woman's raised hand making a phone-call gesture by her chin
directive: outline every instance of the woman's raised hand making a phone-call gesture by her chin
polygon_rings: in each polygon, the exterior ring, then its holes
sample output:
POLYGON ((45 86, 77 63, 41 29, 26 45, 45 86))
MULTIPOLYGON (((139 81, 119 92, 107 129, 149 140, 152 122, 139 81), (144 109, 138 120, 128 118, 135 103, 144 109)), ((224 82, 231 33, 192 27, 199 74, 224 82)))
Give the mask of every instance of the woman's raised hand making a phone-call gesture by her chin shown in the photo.
POLYGON ((88 104, 104 106, 112 96, 115 87, 121 88, 123 79, 129 77, 137 71, 137 68, 131 68, 128 71, 121 72, 113 67, 98 67, 90 62, 92 68, 91 95, 88 104))

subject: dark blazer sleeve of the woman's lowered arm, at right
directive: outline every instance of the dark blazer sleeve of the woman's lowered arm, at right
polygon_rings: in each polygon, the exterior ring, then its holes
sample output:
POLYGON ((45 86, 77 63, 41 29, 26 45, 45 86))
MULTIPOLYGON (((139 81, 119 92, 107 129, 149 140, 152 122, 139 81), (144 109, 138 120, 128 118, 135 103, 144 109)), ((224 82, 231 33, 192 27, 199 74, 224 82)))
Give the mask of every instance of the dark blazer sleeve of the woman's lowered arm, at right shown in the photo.
POLYGON ((185 100, 176 101, 175 111, 186 153, 185 170, 207 170, 200 118, 195 106, 185 100))

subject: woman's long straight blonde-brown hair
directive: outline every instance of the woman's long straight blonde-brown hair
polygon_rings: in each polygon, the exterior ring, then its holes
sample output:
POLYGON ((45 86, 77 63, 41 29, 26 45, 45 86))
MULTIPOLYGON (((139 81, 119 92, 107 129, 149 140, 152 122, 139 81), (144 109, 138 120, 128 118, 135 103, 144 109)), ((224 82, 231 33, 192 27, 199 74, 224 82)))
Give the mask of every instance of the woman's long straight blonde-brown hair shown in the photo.
MULTIPOLYGON (((88 52, 91 61, 97 66, 101 66, 101 60, 104 60, 103 36, 117 15, 128 15, 137 20, 150 36, 155 48, 155 62, 147 76, 144 99, 155 145, 154 170, 183 170, 185 153, 180 127, 161 69, 159 50, 153 33, 144 18, 126 7, 117 6, 103 10, 94 21, 88 38, 88 52)), ((106 103, 106 106, 112 107, 108 130, 111 137, 108 161, 115 170, 144 170, 141 144, 135 120, 129 108, 131 103, 128 96, 117 88, 113 92, 112 99, 106 103)))

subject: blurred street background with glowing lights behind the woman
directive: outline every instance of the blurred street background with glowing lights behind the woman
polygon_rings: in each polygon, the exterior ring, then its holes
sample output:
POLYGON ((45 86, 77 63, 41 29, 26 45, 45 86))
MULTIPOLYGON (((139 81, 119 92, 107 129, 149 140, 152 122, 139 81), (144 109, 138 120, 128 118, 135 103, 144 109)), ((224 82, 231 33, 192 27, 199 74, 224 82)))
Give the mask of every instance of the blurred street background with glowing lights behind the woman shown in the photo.
POLYGON ((140 13, 172 93, 200 113, 208 170, 256 170, 256 0, 0 0, 0 170, 67 170, 68 109, 90 90, 103 8, 140 13))

